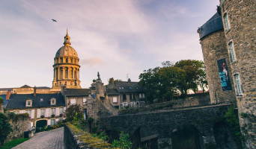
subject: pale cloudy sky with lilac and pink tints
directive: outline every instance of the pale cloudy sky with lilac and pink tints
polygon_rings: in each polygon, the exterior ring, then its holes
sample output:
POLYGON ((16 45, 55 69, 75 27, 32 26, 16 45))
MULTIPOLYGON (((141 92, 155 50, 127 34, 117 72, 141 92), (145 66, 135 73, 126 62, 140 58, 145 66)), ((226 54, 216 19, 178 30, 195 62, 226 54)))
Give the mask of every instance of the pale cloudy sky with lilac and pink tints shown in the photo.
POLYGON ((2 0, 0 88, 52 87, 54 57, 68 29, 82 88, 100 72, 138 81, 164 61, 203 60, 197 29, 216 13, 209 0, 2 0), (52 22, 52 19, 57 22, 52 22))

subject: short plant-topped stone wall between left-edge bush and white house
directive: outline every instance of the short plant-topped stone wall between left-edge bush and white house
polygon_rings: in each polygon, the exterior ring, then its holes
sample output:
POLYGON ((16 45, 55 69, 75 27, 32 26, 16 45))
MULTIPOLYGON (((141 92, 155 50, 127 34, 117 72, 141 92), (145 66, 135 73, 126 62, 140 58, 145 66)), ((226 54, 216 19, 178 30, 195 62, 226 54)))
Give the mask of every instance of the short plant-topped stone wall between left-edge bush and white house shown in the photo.
POLYGON ((28 115, 15 114, 13 116, 7 115, 7 117, 9 118, 9 123, 13 131, 7 136, 5 142, 23 138, 24 132, 28 131, 28 115))

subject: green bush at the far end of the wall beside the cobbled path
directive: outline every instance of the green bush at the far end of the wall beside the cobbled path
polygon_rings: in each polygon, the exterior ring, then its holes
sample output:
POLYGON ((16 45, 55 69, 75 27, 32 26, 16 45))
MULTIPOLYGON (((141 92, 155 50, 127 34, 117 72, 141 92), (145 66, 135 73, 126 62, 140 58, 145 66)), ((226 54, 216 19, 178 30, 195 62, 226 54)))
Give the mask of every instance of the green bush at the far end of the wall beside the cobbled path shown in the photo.
POLYGON ((83 118, 83 113, 80 105, 73 104, 66 110, 66 120, 73 121, 73 118, 76 117, 77 119, 83 118))

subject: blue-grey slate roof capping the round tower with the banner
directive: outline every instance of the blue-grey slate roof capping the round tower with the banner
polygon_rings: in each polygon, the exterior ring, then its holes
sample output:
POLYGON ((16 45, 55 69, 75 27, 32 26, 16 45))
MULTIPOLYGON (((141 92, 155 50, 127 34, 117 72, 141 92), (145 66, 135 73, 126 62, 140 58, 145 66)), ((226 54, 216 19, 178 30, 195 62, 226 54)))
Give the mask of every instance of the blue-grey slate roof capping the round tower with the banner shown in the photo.
POLYGON ((201 38, 203 39, 209 34, 215 31, 223 30, 222 16, 219 13, 215 13, 199 30, 201 31, 201 38))

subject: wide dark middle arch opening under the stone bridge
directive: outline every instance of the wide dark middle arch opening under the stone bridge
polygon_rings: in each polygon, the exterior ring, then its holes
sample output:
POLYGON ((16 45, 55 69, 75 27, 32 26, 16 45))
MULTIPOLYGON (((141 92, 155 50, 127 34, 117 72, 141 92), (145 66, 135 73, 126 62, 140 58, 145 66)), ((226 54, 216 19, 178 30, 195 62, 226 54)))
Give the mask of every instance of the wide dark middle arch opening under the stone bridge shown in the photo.
POLYGON ((183 125, 172 131, 172 149, 201 149, 198 129, 192 125, 183 125))

